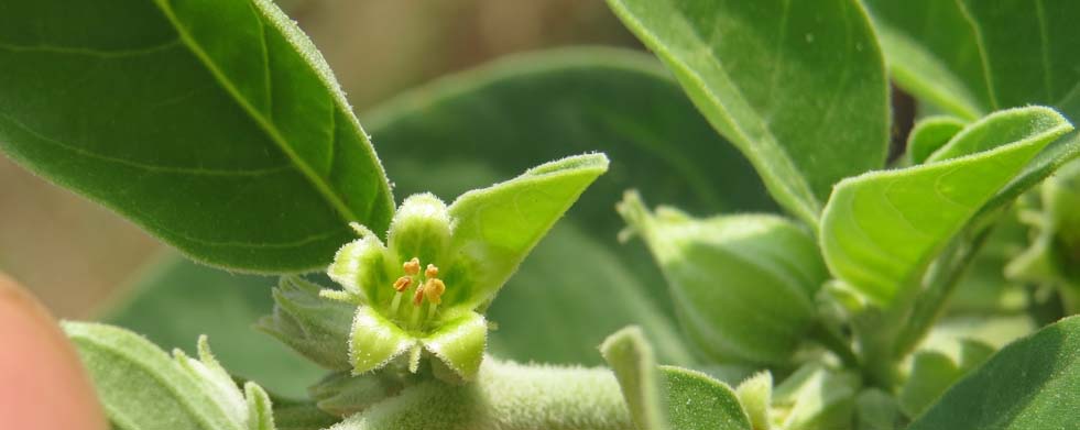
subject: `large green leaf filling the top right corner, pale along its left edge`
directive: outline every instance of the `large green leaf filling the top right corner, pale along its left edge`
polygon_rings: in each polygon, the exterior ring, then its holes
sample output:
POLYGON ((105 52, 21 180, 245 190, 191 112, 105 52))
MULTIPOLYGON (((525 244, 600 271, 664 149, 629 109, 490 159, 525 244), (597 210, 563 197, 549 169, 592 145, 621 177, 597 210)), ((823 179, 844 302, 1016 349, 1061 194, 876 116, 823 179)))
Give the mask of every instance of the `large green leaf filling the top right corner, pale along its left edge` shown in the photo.
POLYGON ((964 118, 1024 104, 1080 114, 1072 1, 866 0, 897 82, 964 118))

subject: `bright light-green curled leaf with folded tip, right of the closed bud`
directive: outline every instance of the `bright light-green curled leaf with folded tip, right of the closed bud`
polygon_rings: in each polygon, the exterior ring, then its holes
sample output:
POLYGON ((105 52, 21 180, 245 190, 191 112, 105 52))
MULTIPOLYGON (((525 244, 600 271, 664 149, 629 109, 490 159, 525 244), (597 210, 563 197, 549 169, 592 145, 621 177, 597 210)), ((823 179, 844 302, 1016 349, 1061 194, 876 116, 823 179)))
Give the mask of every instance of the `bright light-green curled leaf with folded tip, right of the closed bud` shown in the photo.
POLYGON ((892 304, 1043 147, 1071 130, 1047 108, 995 112, 927 164, 841 181, 821 220, 826 263, 871 300, 892 304))

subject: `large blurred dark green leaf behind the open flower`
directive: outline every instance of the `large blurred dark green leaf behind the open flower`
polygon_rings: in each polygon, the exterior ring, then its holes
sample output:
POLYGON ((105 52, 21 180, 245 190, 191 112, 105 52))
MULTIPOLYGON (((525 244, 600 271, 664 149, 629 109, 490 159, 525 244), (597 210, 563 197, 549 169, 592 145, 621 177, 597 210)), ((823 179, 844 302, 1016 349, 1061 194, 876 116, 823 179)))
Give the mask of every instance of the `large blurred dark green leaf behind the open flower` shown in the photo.
POLYGON ((599 364, 596 345, 633 323, 662 361, 691 363, 663 276, 644 247, 617 246, 623 224, 611 208, 639 188, 695 212, 774 209, 745 159, 654 58, 636 52, 511 57, 361 118, 400 195, 432 191, 450 201, 537 161, 590 151, 612 159, 488 309, 499 323, 489 337, 497 356, 599 364))

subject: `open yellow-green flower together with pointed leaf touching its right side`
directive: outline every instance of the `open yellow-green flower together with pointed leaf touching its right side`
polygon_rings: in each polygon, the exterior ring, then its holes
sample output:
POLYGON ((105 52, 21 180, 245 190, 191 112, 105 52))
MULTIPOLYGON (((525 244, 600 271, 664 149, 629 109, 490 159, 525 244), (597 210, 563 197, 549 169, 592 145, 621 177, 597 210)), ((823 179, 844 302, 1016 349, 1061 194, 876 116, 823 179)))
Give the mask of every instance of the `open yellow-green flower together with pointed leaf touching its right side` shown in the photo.
POLYGON ((480 368, 482 312, 525 255, 608 168, 602 154, 564 158, 472 190, 449 207, 430 194, 397 208, 386 242, 353 223, 360 239, 327 269, 341 290, 321 295, 358 306, 349 337, 353 374, 401 361, 415 373, 469 381, 480 368))

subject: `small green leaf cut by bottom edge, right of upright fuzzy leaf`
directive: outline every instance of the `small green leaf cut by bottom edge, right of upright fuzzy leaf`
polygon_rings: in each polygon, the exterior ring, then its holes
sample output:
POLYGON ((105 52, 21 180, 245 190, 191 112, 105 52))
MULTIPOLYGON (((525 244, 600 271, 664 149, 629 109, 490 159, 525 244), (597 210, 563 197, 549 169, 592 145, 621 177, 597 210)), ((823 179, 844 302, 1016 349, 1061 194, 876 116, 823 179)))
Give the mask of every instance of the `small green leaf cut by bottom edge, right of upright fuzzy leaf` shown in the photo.
POLYGON ((739 396, 727 384, 688 368, 661 366, 673 429, 751 430, 739 396))

